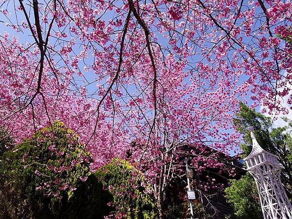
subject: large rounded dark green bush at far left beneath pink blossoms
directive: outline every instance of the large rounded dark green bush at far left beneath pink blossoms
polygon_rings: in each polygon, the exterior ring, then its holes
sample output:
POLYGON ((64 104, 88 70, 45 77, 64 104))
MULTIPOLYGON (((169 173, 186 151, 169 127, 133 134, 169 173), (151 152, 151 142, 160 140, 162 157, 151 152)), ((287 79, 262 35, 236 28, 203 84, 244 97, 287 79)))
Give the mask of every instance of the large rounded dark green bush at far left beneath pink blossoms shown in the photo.
POLYGON ((38 131, 0 159, 1 214, 62 218, 80 179, 90 175, 90 162, 85 146, 62 123, 38 131))

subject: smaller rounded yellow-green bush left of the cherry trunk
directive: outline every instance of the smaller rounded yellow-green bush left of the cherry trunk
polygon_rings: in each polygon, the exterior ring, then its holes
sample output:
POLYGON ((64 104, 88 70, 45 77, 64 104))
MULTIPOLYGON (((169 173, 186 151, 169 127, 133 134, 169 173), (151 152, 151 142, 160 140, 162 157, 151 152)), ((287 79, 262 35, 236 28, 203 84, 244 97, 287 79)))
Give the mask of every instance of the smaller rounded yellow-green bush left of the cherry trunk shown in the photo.
MULTIPOLYGON (((115 217, 157 219, 156 202, 144 177, 125 160, 114 159, 94 175, 113 196, 115 217)), ((111 204, 111 203, 110 203, 111 204)), ((110 205, 109 204, 109 205, 110 205)))

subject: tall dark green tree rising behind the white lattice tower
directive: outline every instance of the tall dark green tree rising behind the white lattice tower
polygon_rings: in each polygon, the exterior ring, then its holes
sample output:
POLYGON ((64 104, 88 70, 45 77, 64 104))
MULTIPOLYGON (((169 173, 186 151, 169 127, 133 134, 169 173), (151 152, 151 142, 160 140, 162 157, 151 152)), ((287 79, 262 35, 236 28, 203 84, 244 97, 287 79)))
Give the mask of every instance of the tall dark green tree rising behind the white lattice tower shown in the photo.
POLYGON ((256 110, 251 110, 248 106, 240 103, 240 110, 234 118, 234 125, 237 130, 244 134, 244 142, 241 147, 244 151, 244 157, 252 149, 252 139, 247 128, 255 128, 255 136, 258 144, 265 150, 278 156, 281 170, 282 183, 287 188, 288 196, 292 198, 292 136, 291 120, 284 118, 287 126, 273 127, 270 117, 267 117, 256 110))

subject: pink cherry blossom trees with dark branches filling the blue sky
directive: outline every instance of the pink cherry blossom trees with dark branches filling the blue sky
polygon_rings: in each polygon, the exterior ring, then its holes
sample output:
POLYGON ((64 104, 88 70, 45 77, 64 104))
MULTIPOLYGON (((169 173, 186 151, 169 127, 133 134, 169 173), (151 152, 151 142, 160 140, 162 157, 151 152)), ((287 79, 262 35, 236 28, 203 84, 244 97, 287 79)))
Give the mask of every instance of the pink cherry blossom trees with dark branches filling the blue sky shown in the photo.
MULTIPOLYGON (((92 171, 130 152, 160 218, 181 146, 236 148, 239 100, 269 112, 287 113, 284 97, 292 104, 290 0, 2 0, 1 8, 0 125, 20 142, 62 121, 90 149, 92 171)), ((215 155, 198 154, 194 166, 216 167, 215 155)))

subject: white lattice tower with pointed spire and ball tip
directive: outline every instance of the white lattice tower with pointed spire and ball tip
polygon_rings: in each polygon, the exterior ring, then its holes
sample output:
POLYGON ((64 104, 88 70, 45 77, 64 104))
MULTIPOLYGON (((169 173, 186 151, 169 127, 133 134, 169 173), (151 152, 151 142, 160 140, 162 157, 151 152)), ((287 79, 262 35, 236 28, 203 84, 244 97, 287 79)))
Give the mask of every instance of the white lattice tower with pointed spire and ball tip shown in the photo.
POLYGON ((292 206, 280 179, 278 157, 259 146, 253 127, 248 130, 251 132, 253 149, 243 160, 256 181, 264 219, 292 219, 292 206))

